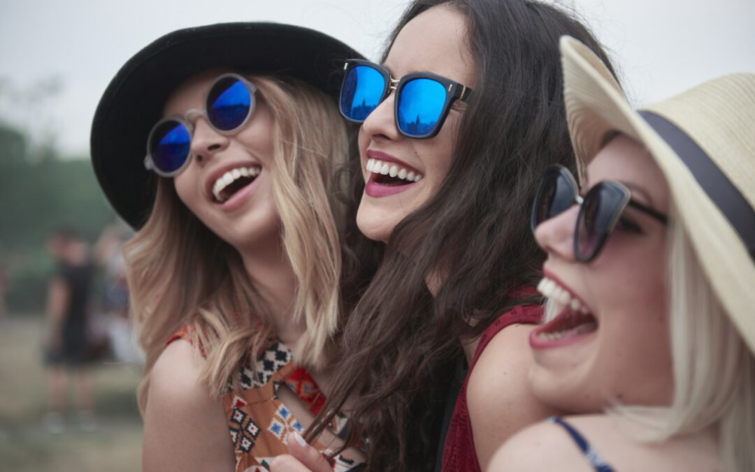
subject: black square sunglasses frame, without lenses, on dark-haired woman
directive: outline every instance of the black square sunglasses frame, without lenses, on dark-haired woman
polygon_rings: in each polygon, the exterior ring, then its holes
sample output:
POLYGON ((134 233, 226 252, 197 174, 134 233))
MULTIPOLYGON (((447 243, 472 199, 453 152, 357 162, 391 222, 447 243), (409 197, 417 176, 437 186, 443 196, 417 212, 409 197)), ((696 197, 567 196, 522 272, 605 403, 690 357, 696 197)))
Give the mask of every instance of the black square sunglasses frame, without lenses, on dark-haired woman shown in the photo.
MULTIPOLYGON (((443 127, 443 123, 445 123, 445 119, 448 117, 448 112, 451 110, 451 108, 454 107, 453 105, 456 100, 467 103, 467 100, 473 93, 473 90, 466 85, 462 85, 459 82, 455 82, 451 79, 446 79, 443 76, 438 76, 437 74, 433 74, 432 72, 411 72, 403 76, 401 79, 393 79, 393 77, 390 75, 390 71, 380 64, 376 64, 369 60, 363 59, 348 59, 346 63, 344 63, 344 80, 343 82, 341 82, 341 94, 344 91, 344 85, 346 84, 346 78, 349 75, 350 69, 353 69, 356 66, 370 67, 371 69, 379 72, 381 76, 383 76, 383 92, 381 93, 380 100, 377 100, 377 106, 380 106, 380 104, 384 102, 388 95, 390 95, 390 91, 396 91, 396 96, 393 99, 393 121, 396 123, 396 129, 399 131, 399 134, 404 137, 410 137, 411 139, 430 139, 430 137, 435 137, 443 127), (445 102, 443 103, 440 115, 438 116, 438 121, 429 133, 421 135, 408 134, 399 126, 399 97, 401 96, 401 92, 406 84, 416 79, 433 80, 442 85, 445 90, 445 102)), ((346 116, 346 113, 344 113, 344 110, 342 110, 341 108, 341 94, 339 94, 338 100, 338 111, 341 113, 341 116, 353 123, 365 122, 364 119, 351 119, 346 116)), ((375 106, 375 108, 377 108, 377 106, 375 106)), ((457 108, 456 110, 459 109, 457 108)))

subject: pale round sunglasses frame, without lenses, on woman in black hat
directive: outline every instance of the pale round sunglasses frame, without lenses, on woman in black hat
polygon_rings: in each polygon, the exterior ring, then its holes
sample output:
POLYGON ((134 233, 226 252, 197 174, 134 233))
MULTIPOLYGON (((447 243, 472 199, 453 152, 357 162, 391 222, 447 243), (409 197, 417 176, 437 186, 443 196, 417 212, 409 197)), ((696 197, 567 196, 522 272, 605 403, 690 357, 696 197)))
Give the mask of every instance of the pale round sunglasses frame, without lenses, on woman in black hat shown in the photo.
POLYGON ((217 76, 214 81, 212 81, 212 84, 208 87, 207 91, 205 92, 205 97, 202 100, 202 105, 204 106, 203 110, 199 110, 196 108, 191 108, 190 110, 186 110, 186 113, 183 114, 183 116, 166 116, 163 119, 160 119, 159 122, 156 122, 155 125, 153 125, 152 129, 149 130, 149 134, 146 138, 146 156, 144 157, 144 168, 146 168, 147 171, 153 171, 156 174, 158 174, 161 177, 175 177, 177 174, 179 174, 181 171, 183 171, 184 168, 186 168, 186 165, 189 164, 189 162, 192 159, 193 154, 190 152, 186 156, 186 159, 183 161, 183 164, 180 165, 179 168, 177 168, 174 171, 171 172, 165 172, 162 171, 157 165, 155 165, 155 161, 152 157, 152 150, 150 150, 153 135, 155 132, 159 129, 160 125, 162 125, 165 122, 177 122, 180 125, 182 125, 184 128, 186 128, 186 131, 189 133, 189 142, 191 143, 191 140, 194 137, 194 125, 191 123, 191 117, 193 115, 199 115, 201 118, 205 119, 205 122, 208 124, 210 128, 212 128, 213 131, 215 131, 218 134, 223 134, 223 136, 230 136, 232 134, 236 134, 244 128, 244 126, 249 122, 249 119, 251 119, 251 116, 254 115, 254 110, 257 108, 257 99, 255 97, 255 93, 257 92, 257 87, 251 83, 248 79, 246 79, 244 76, 237 74, 236 72, 227 72, 224 74, 221 74, 220 76, 217 76), (220 128, 217 128, 217 126, 214 125, 214 123, 209 119, 209 116, 207 114, 207 101, 210 97, 210 92, 213 88, 215 88, 215 85, 217 85, 221 80, 227 79, 227 78, 233 78, 239 80, 239 82, 242 82, 242 84, 245 85, 248 93, 249 93, 249 111, 246 114, 246 117, 244 121, 241 122, 240 125, 236 126, 236 128, 230 129, 230 130, 223 130, 220 128))

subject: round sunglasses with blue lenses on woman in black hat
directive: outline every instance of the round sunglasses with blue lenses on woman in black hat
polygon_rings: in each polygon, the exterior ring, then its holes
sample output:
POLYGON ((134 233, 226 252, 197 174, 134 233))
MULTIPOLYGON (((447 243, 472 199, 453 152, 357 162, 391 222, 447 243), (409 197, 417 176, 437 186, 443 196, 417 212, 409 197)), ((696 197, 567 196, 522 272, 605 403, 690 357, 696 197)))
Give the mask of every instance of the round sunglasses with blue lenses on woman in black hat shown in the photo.
POLYGON ((163 177, 178 174, 191 158, 194 126, 190 117, 199 114, 220 134, 234 134, 254 113, 257 88, 239 74, 219 76, 205 97, 205 110, 192 109, 183 116, 169 116, 157 122, 146 140, 144 167, 163 177))

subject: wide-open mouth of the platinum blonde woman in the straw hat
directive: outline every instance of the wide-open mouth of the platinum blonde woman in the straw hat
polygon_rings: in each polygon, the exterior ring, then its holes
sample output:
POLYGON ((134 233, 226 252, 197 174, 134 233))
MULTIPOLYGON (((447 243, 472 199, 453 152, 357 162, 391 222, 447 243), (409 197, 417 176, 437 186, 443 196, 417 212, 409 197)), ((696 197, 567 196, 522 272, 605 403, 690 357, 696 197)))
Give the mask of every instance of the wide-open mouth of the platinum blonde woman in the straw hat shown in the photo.
POLYGON ((564 341, 559 344, 565 344, 566 341, 576 341, 591 335, 598 329, 597 319, 587 306, 554 280, 544 277, 538 284, 538 292, 555 302, 558 313, 550 322, 533 332, 538 341, 564 341))

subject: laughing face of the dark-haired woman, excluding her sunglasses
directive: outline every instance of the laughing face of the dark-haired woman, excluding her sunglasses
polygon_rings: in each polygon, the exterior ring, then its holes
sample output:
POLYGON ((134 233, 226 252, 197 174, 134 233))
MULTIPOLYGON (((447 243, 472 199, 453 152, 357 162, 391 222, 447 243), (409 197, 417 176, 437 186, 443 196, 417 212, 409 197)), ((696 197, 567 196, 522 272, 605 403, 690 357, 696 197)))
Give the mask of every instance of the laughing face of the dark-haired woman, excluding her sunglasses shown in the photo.
MULTIPOLYGON (((384 66, 395 79, 410 72, 433 72, 474 88, 464 15, 445 6, 419 14, 396 36, 384 66)), ((359 130, 367 184, 356 222, 365 236, 383 242, 396 224, 438 193, 451 166, 461 121, 461 113, 451 110, 435 137, 404 137, 396 129, 394 97, 391 93, 377 106, 359 130)))

